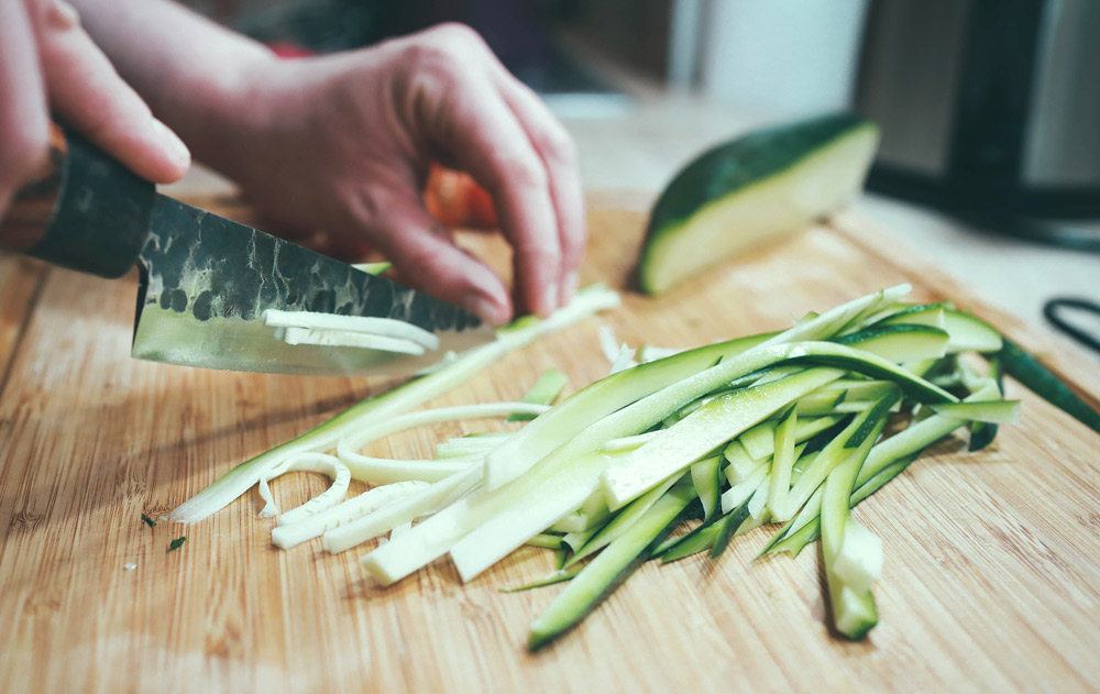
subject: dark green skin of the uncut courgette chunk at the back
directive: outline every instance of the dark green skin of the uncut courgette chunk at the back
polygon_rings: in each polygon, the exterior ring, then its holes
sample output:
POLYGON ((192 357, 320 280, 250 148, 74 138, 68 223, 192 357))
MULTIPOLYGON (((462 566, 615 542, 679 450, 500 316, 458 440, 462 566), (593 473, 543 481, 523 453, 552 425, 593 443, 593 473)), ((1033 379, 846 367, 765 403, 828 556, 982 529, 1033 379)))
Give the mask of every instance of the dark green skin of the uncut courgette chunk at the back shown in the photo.
POLYGON ((708 202, 781 174, 857 130, 875 128, 853 113, 831 113, 758 130, 704 152, 672 178, 654 203, 635 271, 637 286, 656 293, 646 285, 642 272, 651 261, 653 241, 676 230, 708 202))

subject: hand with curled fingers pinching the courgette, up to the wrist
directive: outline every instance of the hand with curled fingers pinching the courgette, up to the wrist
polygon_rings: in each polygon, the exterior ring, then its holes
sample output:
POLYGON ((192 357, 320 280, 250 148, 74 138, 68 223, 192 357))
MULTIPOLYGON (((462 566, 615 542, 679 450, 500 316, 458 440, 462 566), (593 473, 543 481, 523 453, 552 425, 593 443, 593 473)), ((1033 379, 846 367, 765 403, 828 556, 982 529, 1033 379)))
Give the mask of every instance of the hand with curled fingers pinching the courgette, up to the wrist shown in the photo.
POLYGON ((585 242, 572 143, 473 31, 261 62, 239 98, 242 123, 215 165, 287 228, 365 242, 405 282, 499 324, 513 313, 504 284, 424 208, 439 161, 492 195, 518 308, 546 316, 572 297, 585 242))

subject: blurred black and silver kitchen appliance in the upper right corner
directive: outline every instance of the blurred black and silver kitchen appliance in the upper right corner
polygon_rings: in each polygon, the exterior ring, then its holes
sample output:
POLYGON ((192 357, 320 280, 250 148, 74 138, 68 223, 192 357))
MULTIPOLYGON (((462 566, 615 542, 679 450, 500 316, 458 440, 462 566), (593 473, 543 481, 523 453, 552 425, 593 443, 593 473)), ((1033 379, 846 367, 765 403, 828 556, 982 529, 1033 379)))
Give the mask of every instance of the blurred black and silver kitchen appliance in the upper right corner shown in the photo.
POLYGON ((870 190, 1100 250, 1100 2, 875 2, 855 106, 870 190))

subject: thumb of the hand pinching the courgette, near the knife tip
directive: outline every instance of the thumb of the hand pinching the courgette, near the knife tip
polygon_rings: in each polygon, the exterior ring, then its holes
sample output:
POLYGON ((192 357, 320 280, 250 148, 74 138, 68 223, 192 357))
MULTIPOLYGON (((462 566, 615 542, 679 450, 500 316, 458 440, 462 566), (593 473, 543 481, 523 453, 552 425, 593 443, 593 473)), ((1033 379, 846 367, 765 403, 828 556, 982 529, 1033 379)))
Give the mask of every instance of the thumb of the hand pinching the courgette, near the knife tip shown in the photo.
POLYGON ((435 297, 452 301, 494 326, 512 316, 508 293, 484 263, 454 245, 418 203, 415 189, 362 194, 353 214, 370 228, 372 241, 402 274, 402 280, 435 297), (380 213, 385 210, 385 213, 380 213))

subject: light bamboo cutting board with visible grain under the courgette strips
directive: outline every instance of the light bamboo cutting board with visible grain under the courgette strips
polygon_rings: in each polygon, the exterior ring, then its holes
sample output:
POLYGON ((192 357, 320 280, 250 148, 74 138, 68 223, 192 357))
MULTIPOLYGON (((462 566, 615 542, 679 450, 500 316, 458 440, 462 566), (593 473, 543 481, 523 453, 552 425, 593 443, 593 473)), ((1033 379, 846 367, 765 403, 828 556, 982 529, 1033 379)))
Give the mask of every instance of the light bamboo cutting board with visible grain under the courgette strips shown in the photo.
MULTIPOLYGON (((622 287, 644 213, 593 199, 584 282, 622 287)), ((209 201, 208 201, 209 205, 209 201)), ((241 210, 224 209, 230 213, 241 210)), ((499 244, 466 242, 503 264, 499 244)), ((851 214, 510 355, 435 405, 516 398, 547 366, 604 375, 597 326, 690 346, 899 282, 952 298, 1044 352, 1093 404, 1094 363, 967 295, 851 214)), ((756 561, 768 530, 718 562, 645 565, 579 629, 525 650, 558 587, 526 548, 462 585, 440 561, 369 586, 363 551, 270 543, 254 493, 197 526, 154 518, 235 463, 391 385, 132 361, 133 277, 0 257, 0 689, 6 692, 1031 691, 1100 689, 1100 436, 1014 383, 1023 420, 968 454, 942 443, 856 511, 884 541, 870 638, 829 635, 816 552, 756 561), (168 551, 172 539, 186 543, 168 551), (135 568, 127 569, 128 564, 135 568)), ((427 453, 440 426, 381 449, 427 453)), ((274 484, 288 508, 326 487, 274 484)))

